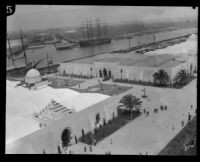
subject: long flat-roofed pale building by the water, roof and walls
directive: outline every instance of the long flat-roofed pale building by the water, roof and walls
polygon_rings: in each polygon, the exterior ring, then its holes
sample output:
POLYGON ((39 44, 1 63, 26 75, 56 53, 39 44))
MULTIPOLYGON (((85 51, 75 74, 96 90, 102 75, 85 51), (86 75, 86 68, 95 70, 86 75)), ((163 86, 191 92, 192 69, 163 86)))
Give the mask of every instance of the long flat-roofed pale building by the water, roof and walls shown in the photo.
POLYGON ((180 69, 193 73, 197 69, 195 55, 139 55, 139 54, 103 54, 67 63, 60 63, 60 74, 109 77, 111 79, 154 82, 153 74, 165 70, 169 75, 169 84, 180 69))

